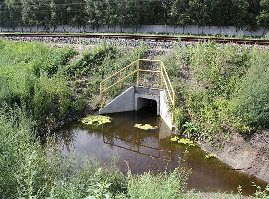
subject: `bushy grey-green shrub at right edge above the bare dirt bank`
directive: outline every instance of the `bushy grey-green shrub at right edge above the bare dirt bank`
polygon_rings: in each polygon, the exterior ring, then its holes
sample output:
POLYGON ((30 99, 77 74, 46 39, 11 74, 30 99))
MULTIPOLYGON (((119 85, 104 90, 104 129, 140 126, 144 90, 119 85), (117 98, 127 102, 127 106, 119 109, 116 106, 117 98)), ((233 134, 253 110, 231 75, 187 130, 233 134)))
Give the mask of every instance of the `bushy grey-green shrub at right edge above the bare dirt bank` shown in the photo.
MULTIPOLYGON (((239 85, 237 97, 232 102, 233 113, 246 125, 269 126, 268 79, 269 53, 254 52, 251 66, 239 85)), ((244 129, 241 128, 241 131, 244 129)))

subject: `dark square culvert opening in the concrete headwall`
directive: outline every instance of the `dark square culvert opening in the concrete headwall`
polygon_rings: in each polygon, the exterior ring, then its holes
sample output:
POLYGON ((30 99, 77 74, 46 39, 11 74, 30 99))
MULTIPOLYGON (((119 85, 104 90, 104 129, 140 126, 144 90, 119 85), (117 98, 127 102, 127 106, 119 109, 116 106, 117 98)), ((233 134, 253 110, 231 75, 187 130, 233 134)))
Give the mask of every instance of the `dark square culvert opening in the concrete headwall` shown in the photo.
POLYGON ((146 98, 137 98, 137 110, 149 114, 157 114, 157 101, 146 98))

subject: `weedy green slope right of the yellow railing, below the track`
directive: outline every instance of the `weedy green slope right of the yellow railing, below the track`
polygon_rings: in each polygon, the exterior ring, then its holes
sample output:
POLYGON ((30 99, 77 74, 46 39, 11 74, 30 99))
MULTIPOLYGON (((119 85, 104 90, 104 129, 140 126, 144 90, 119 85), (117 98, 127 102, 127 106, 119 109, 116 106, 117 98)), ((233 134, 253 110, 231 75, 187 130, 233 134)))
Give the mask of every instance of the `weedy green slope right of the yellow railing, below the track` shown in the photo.
POLYGON ((228 44, 175 46, 163 57, 177 93, 175 126, 198 124, 198 134, 236 129, 243 133, 269 127, 269 53, 228 44), (190 76, 184 80, 182 70, 190 76), (185 121, 184 121, 185 120, 185 121))

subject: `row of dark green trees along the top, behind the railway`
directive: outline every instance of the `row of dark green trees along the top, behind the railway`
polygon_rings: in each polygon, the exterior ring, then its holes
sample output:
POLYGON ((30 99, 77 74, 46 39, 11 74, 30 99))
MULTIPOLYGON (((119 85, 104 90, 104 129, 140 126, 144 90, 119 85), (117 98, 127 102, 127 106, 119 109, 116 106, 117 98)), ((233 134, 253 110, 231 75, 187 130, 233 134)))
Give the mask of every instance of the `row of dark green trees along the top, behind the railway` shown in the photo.
MULTIPOLYGON (((0 27, 164 24, 269 28, 269 0, 0 0, 0 27)), ((31 29, 30 29, 31 30, 31 29)), ((43 30, 43 29, 42 29, 43 30)))

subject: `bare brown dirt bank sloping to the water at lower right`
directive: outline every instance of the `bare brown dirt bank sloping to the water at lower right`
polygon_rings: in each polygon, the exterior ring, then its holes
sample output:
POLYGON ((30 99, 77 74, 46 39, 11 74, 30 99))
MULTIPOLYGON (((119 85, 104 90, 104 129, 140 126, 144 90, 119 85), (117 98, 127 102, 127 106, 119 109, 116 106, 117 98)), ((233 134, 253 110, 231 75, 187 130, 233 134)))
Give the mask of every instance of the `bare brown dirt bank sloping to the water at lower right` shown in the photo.
POLYGON ((233 133, 213 135, 213 142, 198 141, 207 153, 234 167, 269 182, 269 129, 261 133, 244 135, 233 133))

